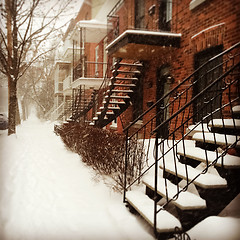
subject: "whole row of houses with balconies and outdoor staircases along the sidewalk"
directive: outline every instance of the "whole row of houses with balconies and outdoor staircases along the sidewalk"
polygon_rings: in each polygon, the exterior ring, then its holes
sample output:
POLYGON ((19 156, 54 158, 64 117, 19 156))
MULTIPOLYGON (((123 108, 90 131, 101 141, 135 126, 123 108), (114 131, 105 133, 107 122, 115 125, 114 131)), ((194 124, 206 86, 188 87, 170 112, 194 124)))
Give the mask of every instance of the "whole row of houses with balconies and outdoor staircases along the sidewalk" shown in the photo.
POLYGON ((57 63, 72 74, 62 98, 79 106, 73 121, 125 134, 124 202, 157 238, 185 234, 240 192, 239 1, 89 3, 57 63), (83 108, 81 85, 91 90, 83 108))

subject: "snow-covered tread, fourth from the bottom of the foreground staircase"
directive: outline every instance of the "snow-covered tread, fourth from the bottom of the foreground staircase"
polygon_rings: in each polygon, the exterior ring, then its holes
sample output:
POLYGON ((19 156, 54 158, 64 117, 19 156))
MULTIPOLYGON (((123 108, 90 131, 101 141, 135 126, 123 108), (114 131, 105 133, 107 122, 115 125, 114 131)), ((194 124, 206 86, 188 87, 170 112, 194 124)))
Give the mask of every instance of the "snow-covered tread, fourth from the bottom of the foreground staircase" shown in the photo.
MULTIPOLYGON (((184 156, 183 148, 179 148, 177 153, 181 156, 184 156)), ((187 147, 185 149, 185 156, 192 158, 197 161, 206 162, 206 155, 208 157, 208 162, 215 161, 217 155, 214 151, 204 150, 198 147, 187 147)), ((218 153, 220 155, 220 153, 218 153)), ((239 168, 240 167, 240 157, 226 154, 223 157, 220 157, 216 162, 216 166, 221 167, 223 162, 224 168, 239 168)))

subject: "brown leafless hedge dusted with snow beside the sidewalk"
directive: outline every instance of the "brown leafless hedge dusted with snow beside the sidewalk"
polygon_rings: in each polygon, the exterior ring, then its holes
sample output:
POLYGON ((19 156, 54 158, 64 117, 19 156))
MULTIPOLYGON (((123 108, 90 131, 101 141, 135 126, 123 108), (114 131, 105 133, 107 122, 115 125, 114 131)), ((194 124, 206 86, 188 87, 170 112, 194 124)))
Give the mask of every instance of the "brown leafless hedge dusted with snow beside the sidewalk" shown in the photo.
MULTIPOLYGON (((111 177, 112 186, 121 191, 124 186, 125 137, 108 130, 83 126, 79 123, 67 123, 55 129, 73 152, 82 157, 82 161, 93 167, 98 174, 111 177)), ((133 181, 143 168, 143 146, 132 140, 128 149, 127 182, 133 181)))

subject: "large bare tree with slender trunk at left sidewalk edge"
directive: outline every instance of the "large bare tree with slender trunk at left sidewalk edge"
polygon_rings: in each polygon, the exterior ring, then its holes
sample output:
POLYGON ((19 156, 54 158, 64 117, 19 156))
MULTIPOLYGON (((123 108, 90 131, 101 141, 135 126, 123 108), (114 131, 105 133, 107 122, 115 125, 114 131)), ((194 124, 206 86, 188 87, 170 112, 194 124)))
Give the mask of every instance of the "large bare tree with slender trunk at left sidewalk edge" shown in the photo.
POLYGON ((56 23, 70 0, 5 0, 1 4, 0 71, 8 78, 9 129, 16 132, 17 83, 26 70, 46 52, 57 36, 56 23))

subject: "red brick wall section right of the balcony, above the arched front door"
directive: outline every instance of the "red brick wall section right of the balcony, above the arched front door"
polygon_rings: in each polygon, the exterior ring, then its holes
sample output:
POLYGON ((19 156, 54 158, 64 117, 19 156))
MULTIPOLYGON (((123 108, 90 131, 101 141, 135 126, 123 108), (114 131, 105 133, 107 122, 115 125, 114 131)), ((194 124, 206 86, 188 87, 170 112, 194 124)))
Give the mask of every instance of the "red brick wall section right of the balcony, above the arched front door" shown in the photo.
POLYGON ((172 27, 182 34, 182 41, 172 66, 175 78, 180 81, 194 70, 196 52, 220 44, 227 49, 240 41, 238 0, 208 0, 193 10, 189 10, 189 3, 190 0, 183 0, 179 5, 173 4, 178 13, 173 16, 172 27))

